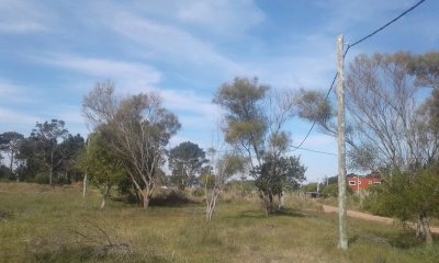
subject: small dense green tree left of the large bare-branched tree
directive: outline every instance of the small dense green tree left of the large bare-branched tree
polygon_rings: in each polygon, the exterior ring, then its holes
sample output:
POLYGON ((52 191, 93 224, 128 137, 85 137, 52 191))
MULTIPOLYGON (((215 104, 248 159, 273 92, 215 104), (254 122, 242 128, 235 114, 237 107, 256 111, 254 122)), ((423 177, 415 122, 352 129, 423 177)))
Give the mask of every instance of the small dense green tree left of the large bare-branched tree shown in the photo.
POLYGON ((113 185, 126 178, 126 171, 101 134, 91 134, 87 149, 83 149, 78 167, 89 176, 90 182, 101 188, 101 208, 105 206, 113 185))

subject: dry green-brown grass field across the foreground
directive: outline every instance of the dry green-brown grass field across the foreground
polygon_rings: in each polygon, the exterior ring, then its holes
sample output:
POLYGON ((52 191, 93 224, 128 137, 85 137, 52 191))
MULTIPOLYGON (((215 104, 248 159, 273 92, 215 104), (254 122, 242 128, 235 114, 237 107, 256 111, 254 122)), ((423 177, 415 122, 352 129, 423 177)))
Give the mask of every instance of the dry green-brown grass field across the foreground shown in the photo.
POLYGON ((398 226, 349 220, 349 251, 337 249, 337 216, 286 199, 264 217, 258 199, 228 197, 204 221, 203 203, 148 211, 79 187, 0 183, 0 262, 438 262, 398 226))

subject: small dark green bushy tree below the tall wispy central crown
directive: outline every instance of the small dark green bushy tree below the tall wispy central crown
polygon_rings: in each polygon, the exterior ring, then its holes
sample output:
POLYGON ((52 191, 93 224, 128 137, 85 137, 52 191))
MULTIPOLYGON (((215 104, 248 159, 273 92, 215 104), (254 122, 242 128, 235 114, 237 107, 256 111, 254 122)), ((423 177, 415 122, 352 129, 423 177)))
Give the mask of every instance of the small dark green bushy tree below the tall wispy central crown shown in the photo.
POLYGON ((306 168, 300 164, 296 157, 269 157, 261 167, 251 171, 256 178, 255 184, 262 193, 266 215, 269 216, 273 209, 273 197, 281 197, 286 188, 297 188, 305 181, 306 168))

